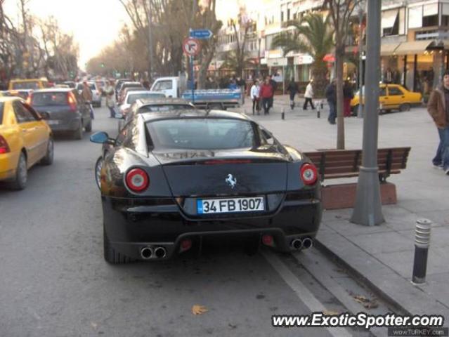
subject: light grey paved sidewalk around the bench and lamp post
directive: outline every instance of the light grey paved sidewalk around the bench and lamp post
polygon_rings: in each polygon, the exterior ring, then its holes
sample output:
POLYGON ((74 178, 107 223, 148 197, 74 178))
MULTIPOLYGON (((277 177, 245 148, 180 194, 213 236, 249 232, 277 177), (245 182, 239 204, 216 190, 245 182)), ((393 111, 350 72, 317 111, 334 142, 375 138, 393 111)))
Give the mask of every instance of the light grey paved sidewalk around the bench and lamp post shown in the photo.
MULTIPOLYGON (((300 101, 304 102, 302 98, 300 101)), ((320 119, 316 112, 302 111, 302 105, 291 112, 286 95, 275 96, 274 106, 270 116, 254 119, 282 143, 304 151, 335 148, 337 128, 327 123, 326 106, 320 119), (282 108, 285 120, 280 118, 282 108)), ((251 114, 248 101, 241 109, 251 114)), ((346 149, 360 149, 363 119, 345 119, 345 129, 346 149)), ((405 311, 442 314, 449 319, 449 177, 431 166, 436 145, 436 128, 425 108, 380 116, 379 147, 412 147, 407 169, 388 179, 396 184, 398 204, 384 206, 386 222, 374 227, 350 223, 352 209, 325 211, 317 246, 332 253, 405 311), (423 286, 410 282, 418 218, 433 221, 427 282, 423 286)), ((331 180, 329 185, 356 181, 331 180)))

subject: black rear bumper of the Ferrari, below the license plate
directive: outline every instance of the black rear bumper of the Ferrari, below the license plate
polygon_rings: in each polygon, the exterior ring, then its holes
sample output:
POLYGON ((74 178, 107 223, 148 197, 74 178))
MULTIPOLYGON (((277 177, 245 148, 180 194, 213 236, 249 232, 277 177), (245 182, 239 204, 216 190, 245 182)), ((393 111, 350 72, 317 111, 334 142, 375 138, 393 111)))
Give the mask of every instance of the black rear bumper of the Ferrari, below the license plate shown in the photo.
MULTIPOLYGON (((319 193, 318 193, 319 194, 319 193)), ((284 198, 278 209, 259 216, 190 218, 172 199, 137 204, 129 199, 103 197, 105 234, 110 246, 130 258, 142 259, 144 247, 164 247, 171 258, 181 242, 199 244, 209 237, 273 237, 273 248, 292 250, 293 239, 313 238, 321 220, 320 199, 284 198)))

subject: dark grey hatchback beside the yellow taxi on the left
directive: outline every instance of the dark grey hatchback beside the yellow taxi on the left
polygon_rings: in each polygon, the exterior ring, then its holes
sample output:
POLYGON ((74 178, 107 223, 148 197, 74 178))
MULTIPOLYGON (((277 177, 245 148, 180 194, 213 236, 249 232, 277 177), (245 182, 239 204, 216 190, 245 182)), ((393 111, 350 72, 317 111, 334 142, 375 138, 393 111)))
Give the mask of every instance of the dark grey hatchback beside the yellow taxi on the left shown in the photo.
POLYGON ((82 139, 83 129, 92 130, 89 106, 79 93, 71 88, 37 90, 30 96, 37 112, 46 112, 46 122, 55 132, 71 132, 74 139, 82 139))

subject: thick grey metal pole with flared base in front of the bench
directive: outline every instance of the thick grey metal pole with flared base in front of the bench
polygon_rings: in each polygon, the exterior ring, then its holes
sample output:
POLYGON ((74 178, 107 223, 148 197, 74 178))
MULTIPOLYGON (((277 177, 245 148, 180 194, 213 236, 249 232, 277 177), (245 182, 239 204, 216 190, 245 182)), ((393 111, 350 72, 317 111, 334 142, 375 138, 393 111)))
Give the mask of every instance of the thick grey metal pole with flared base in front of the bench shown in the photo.
POLYGON ((377 133, 379 131, 380 19, 382 1, 367 0, 367 44, 365 70, 365 115, 363 116, 363 154, 358 176, 356 205, 351 223, 383 223, 377 167, 377 133))

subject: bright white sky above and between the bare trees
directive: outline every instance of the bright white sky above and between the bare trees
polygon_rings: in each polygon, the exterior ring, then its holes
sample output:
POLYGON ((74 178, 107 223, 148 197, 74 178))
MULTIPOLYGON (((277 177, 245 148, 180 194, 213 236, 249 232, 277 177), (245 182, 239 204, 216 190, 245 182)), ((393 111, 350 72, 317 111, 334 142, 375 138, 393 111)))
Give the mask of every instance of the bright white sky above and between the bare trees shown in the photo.
MULTIPOLYGON (((12 20, 18 20, 18 0, 4 0, 4 10, 12 20)), ((253 0, 217 0, 216 14, 227 20, 238 13, 242 4, 253 0)), ((128 15, 119 0, 29 0, 30 13, 39 18, 53 15, 63 32, 72 33, 79 44, 79 67, 111 44, 128 15)), ((181 48, 181 47, 180 47, 181 48)))

